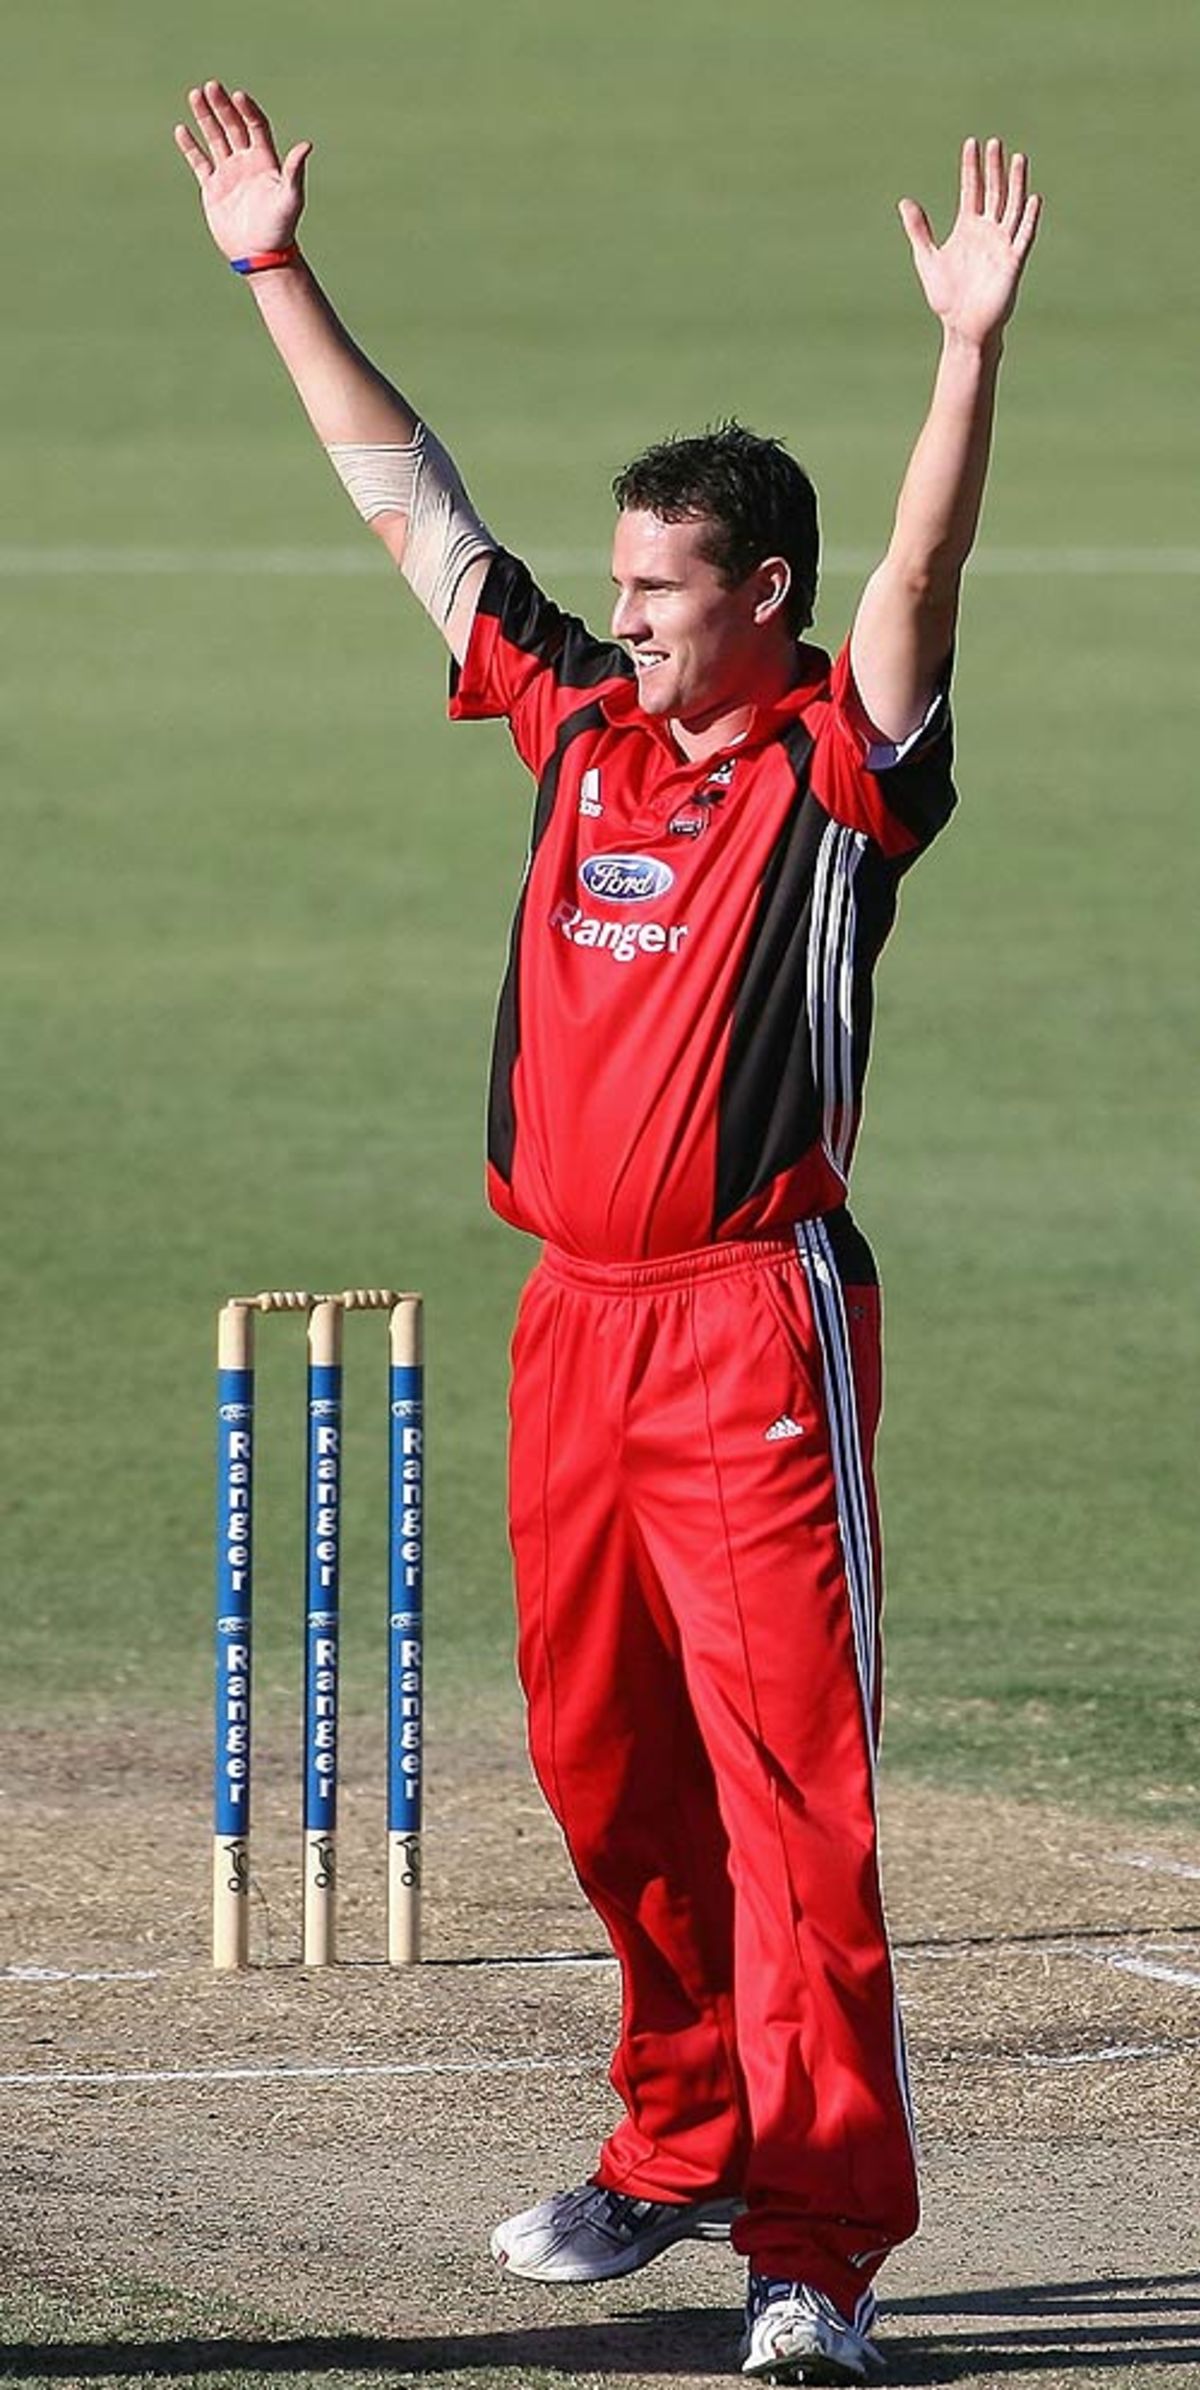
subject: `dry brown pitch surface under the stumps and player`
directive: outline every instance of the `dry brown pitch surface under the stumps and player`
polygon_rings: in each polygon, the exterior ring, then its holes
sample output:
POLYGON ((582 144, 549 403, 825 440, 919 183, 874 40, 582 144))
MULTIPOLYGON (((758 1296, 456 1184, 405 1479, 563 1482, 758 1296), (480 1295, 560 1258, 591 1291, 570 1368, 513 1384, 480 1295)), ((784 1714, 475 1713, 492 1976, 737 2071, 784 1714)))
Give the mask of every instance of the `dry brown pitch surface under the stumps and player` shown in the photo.
MULTIPOLYGON (((0 2373, 731 2378, 727 2249, 593 2290, 495 2275, 490 2223, 590 2168, 617 1984, 516 1726, 480 1711, 430 1740, 428 1965, 375 1957, 380 1773, 359 1735, 347 1965, 292 1960, 280 1764, 256 1783, 241 1979, 208 1969, 203 1735, 22 1742, 0 2213, 38 2347, 0 2373)), ((911 1788, 884 1826, 925 2141, 925 2230, 887 2270, 889 2378, 1181 2383, 1200 2364, 1200 1843, 911 1788)))

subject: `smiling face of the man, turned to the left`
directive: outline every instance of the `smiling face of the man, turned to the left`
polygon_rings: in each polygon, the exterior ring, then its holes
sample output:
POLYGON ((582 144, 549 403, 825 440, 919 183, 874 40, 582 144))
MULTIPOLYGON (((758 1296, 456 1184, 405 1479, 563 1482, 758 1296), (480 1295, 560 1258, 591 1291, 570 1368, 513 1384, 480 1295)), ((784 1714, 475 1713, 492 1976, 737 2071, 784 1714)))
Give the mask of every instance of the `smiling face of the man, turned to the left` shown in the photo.
POLYGON ((703 554, 705 528, 629 509, 612 538, 612 636, 629 648, 643 710, 686 727, 775 693, 786 650, 786 564, 767 559, 727 588, 703 554))

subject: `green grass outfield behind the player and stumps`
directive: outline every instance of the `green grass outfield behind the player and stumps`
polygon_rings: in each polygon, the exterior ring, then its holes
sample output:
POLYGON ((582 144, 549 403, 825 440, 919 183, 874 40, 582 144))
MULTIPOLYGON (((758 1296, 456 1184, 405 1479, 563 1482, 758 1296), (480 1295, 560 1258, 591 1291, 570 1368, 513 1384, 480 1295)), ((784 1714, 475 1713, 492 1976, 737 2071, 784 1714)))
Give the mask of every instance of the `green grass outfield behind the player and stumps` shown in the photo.
MULTIPOLYGON (((509 1666, 502 1389, 526 1252, 483 1212, 480 1114, 526 791, 502 731, 440 719, 437 641, 201 232, 170 148, 182 86, 222 72, 316 139, 318 270, 569 602, 605 609, 629 449, 739 411, 822 490, 829 641, 932 368, 892 201, 911 189, 944 227, 959 136, 999 127, 1033 148, 1049 213, 966 609, 963 808, 884 963, 856 1190, 889 1288, 889 1761, 1195 1814, 1200 531, 1176 12, 189 17, 57 0, 50 29, 31 5, 5 22, 0 1317, 22 1711, 206 1702, 213 1310, 249 1283, 423 1286, 433 1697, 509 1666)), ((366 1506, 380 1405, 371 1324, 351 1334, 366 1506)), ((280 1453, 296 1343, 263 1336, 280 1453)), ((299 1518, 280 1458, 265 1496, 282 1680, 299 1518)), ((356 1683, 378 1546, 359 1518, 356 1683)))

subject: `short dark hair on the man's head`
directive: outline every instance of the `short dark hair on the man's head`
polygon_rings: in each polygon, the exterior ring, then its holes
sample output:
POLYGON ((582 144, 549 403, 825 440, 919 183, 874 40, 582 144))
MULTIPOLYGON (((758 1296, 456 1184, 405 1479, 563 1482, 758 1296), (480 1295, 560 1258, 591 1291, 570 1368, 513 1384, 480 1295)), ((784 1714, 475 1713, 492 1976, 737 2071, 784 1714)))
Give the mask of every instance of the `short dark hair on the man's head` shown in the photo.
POLYGON ((693 437, 655 442, 617 473, 622 511, 636 507, 665 523, 710 523, 708 562, 734 588, 763 557, 786 557, 791 590, 784 619, 796 636, 818 602, 818 492, 782 440, 763 440, 729 416, 693 437))

